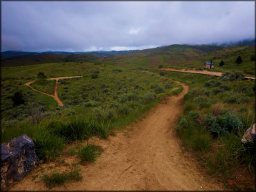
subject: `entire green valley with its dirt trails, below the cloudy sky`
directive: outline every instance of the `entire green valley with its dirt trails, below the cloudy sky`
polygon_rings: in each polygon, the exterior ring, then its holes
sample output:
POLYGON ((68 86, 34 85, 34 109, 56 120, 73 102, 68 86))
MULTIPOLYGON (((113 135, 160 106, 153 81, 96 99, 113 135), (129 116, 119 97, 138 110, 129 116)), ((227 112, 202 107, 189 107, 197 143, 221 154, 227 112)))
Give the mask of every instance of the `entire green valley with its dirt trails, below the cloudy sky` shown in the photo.
POLYGON ((255 153, 241 137, 255 122, 254 50, 174 45, 4 61, 1 142, 26 134, 39 157, 7 190, 252 190, 255 153), (214 69, 198 69, 210 60, 214 69), (101 148, 92 161, 81 152, 89 144, 101 148), (46 182, 68 171, 82 179, 46 182))

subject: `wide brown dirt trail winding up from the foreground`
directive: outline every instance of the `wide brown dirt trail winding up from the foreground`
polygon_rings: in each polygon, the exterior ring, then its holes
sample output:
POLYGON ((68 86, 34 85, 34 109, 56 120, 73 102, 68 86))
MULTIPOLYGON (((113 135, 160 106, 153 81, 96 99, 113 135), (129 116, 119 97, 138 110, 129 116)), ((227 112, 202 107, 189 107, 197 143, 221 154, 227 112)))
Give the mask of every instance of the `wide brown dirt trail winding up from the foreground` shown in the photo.
MULTIPOLYGON (((181 83, 179 83, 181 84, 181 83)), ((68 182, 57 186, 55 191, 209 191, 225 190, 221 181, 204 177, 198 162, 183 151, 174 131, 178 116, 183 111, 183 95, 189 86, 181 84, 179 95, 166 97, 152 108, 140 122, 118 131, 108 140, 93 137, 90 143, 102 146, 104 151, 94 164, 78 164, 82 182, 68 182)), ((86 141, 84 141, 86 143, 86 141)), ((62 157, 67 163, 77 162, 75 156, 62 157)), ((56 162, 42 164, 44 171, 64 171, 56 162)), ((32 181, 34 170, 24 180, 15 184, 11 191, 46 191, 43 182, 32 181)))

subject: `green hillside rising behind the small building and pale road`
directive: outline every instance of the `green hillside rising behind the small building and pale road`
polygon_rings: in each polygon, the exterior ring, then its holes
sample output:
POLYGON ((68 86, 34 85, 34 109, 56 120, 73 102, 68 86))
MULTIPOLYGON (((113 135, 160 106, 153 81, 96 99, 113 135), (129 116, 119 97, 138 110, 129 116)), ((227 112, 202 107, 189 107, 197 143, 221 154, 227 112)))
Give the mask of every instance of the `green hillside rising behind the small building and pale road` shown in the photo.
POLYGON ((130 52, 124 55, 102 59, 107 64, 134 66, 143 68, 158 67, 159 65, 175 68, 204 68, 205 61, 212 60, 215 71, 241 70, 249 75, 255 75, 255 61, 250 56, 255 55, 254 47, 219 47, 219 46, 167 46, 149 50, 130 52), (238 56, 243 62, 236 64, 238 56), (223 60, 225 66, 220 67, 223 60))

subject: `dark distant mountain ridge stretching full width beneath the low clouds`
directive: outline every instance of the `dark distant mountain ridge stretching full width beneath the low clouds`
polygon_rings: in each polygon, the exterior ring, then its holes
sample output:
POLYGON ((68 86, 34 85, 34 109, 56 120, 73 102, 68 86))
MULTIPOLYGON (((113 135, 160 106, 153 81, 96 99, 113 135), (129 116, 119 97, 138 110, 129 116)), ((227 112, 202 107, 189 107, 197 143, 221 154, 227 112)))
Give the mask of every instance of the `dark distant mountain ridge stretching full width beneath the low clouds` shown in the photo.
MULTIPOLYGON (((189 64, 192 61, 208 61, 218 55, 246 54, 246 57, 253 55, 255 41, 246 39, 243 41, 226 44, 174 44, 170 46, 158 46, 144 50, 122 50, 122 51, 92 51, 92 52, 21 52, 6 51, 1 52, 4 56, 1 59, 1 66, 24 66, 57 62, 84 62, 110 64, 144 64, 145 66, 158 66, 159 64, 189 64), (243 53, 244 52, 244 53, 243 53), (5 55, 6 54, 6 55, 5 55), (22 55, 26 54, 26 55, 22 55), (248 55, 250 54, 250 55, 248 55), (15 56, 16 55, 16 56, 15 56), (17 56, 18 55, 18 56, 17 56), (6 58, 7 57, 7 58, 6 58)), ((228 56, 229 57, 229 56, 228 56)), ((243 56, 244 57, 244 56, 243 56)))

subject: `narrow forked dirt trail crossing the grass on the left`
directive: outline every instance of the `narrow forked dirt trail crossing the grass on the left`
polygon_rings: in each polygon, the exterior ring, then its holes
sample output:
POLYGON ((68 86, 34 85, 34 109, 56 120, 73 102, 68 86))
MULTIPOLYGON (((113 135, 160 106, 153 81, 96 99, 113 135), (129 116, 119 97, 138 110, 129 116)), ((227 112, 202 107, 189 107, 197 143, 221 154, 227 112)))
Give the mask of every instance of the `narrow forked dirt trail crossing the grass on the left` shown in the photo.
POLYGON ((59 80, 60 79, 71 79, 71 78, 76 78, 76 77, 82 77, 82 76, 48 78, 48 80, 55 80, 56 81, 56 84, 54 86, 54 95, 45 93, 44 91, 37 90, 36 88, 33 88, 33 86, 30 86, 30 84, 33 84, 33 82, 35 82, 35 81, 29 81, 25 85, 30 87, 30 88, 32 88, 33 90, 35 90, 35 91, 37 91, 39 93, 42 93, 44 95, 48 95, 50 97, 53 97, 55 99, 55 101, 57 102, 58 106, 64 106, 62 100, 60 100, 60 98, 58 96, 58 86, 60 85, 59 80))

